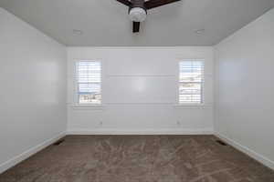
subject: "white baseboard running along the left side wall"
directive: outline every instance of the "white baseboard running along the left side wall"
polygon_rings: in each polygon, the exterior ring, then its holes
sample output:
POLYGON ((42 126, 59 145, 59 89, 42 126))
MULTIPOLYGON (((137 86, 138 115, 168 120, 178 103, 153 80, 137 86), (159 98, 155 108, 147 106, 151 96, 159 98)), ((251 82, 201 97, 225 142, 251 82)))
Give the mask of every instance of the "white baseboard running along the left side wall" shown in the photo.
POLYGON ((52 138, 46 140, 45 142, 37 145, 36 147, 32 147, 32 148, 26 150, 25 152, 23 152, 22 154, 20 154, 16 157, 13 157, 13 158, 7 160, 6 162, 0 164, 0 174, 5 172, 5 170, 9 169, 10 167, 16 166, 16 164, 22 162, 26 158, 33 156, 34 154, 36 154, 40 150, 44 149, 45 147, 50 146, 51 144, 58 141, 58 139, 62 138, 63 136, 66 136, 66 132, 63 132, 63 133, 59 134, 58 136, 52 137, 52 138))

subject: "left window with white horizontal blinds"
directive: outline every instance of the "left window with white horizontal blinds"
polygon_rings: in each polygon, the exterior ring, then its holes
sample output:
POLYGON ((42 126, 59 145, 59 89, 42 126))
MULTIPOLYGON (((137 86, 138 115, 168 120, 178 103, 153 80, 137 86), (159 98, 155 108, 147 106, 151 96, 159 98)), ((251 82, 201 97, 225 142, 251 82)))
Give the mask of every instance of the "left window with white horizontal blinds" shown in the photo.
POLYGON ((101 64, 99 61, 77 63, 79 104, 101 104, 101 64))

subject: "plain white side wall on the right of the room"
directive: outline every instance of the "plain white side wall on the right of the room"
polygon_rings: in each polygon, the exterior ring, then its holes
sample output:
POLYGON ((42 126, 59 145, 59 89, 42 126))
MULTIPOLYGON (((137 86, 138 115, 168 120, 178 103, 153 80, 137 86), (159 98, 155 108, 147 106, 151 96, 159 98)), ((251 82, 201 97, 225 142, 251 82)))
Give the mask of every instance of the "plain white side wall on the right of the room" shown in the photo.
POLYGON ((216 45, 216 132, 274 168, 273 68, 273 9, 216 45))

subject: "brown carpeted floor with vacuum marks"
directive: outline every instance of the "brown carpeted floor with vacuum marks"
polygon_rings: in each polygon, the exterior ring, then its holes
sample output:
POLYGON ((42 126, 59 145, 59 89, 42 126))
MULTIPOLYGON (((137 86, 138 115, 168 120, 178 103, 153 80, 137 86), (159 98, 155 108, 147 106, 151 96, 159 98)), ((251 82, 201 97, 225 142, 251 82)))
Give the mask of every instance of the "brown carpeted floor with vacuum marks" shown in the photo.
POLYGON ((274 182, 274 171, 215 136, 66 136, 1 182, 274 182))

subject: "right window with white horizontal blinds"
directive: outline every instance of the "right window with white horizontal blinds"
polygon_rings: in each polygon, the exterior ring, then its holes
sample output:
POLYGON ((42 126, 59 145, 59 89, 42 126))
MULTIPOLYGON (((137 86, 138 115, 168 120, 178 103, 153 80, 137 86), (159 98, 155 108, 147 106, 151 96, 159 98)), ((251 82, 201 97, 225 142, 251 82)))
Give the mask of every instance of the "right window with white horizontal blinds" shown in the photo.
POLYGON ((179 63, 179 104, 202 104, 204 61, 184 60, 179 63))

